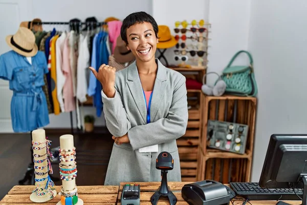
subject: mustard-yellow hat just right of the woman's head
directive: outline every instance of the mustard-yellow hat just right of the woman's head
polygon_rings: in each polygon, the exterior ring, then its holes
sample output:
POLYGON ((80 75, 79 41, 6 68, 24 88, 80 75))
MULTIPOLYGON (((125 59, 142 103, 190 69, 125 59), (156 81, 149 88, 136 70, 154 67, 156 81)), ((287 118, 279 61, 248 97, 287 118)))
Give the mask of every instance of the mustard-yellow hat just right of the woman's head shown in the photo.
POLYGON ((168 26, 159 25, 158 28, 159 28, 158 32, 159 43, 157 44, 157 48, 161 49, 171 48, 178 43, 175 37, 170 34, 168 26))

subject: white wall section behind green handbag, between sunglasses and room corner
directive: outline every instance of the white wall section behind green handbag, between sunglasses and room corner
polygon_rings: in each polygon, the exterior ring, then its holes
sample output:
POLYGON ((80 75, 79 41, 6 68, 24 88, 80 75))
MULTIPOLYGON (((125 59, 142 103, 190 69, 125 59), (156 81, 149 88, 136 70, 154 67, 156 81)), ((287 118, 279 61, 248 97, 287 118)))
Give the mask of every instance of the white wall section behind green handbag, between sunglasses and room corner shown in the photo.
MULTIPOLYGON (((208 70, 219 74, 227 66, 232 56, 248 47, 249 16, 251 0, 211 0, 209 23, 211 33, 208 50, 208 70)), ((248 57, 240 55, 233 63, 246 65, 248 57)), ((207 76, 207 84, 213 84, 217 76, 207 76)))

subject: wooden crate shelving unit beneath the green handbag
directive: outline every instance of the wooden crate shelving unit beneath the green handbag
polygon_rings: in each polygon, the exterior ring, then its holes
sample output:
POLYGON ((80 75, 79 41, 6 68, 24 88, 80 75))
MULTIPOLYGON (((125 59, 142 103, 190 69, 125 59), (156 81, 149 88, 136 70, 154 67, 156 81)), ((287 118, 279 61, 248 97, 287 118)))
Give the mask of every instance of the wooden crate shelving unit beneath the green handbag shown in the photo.
POLYGON ((213 179, 222 183, 250 181, 255 135, 255 97, 205 96, 203 107, 203 133, 198 153, 196 180, 213 179), (207 148, 209 119, 236 122, 249 126, 246 152, 236 154, 207 148))

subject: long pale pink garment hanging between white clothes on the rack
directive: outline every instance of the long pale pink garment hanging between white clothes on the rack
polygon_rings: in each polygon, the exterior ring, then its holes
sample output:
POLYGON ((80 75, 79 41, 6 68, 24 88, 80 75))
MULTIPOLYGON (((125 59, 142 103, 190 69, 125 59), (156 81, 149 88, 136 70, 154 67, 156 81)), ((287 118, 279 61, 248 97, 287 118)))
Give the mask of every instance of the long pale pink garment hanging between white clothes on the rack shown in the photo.
POLYGON ((76 110, 76 100, 73 92, 73 76, 70 67, 70 46, 69 46, 70 33, 67 33, 67 37, 64 41, 63 54, 62 54, 62 70, 65 76, 65 84, 63 87, 64 98, 64 110, 70 112, 76 110))

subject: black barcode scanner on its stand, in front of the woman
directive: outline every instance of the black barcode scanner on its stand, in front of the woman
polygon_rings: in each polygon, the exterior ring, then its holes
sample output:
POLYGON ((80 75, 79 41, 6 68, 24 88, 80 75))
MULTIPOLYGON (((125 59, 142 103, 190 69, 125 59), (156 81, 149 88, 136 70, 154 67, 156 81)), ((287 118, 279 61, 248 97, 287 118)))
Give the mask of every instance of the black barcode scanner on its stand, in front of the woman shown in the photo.
POLYGON ((161 152, 156 161, 156 169, 161 170, 162 180, 159 189, 150 197, 152 205, 156 205, 160 196, 167 196, 170 205, 177 203, 177 197, 172 193, 167 185, 167 172, 172 170, 174 160, 168 152, 161 152))

